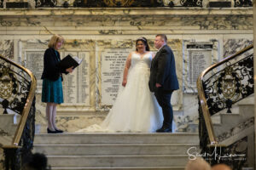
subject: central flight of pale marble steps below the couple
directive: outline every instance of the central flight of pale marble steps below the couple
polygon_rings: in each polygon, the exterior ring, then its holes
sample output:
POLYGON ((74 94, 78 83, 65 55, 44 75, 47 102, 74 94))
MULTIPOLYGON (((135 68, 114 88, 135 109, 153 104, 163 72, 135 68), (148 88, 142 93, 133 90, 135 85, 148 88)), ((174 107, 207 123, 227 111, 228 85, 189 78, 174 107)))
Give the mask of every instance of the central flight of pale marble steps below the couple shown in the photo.
POLYGON ((56 170, 180 170, 192 147, 198 133, 38 133, 33 152, 56 170))

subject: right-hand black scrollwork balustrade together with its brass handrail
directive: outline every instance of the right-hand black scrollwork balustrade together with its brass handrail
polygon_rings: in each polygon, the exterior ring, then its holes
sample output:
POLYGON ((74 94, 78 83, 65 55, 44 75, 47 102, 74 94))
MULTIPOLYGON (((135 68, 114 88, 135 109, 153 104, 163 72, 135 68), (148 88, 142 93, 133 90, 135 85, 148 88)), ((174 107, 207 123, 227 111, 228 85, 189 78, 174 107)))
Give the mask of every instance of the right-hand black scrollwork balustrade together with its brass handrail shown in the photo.
MULTIPOLYGON (((216 150, 221 150, 223 154, 230 154, 234 144, 228 147, 218 145, 211 116, 224 109, 230 113, 232 105, 254 93, 253 86, 253 45, 223 59, 201 73, 197 80, 201 153, 214 153, 216 150)), ((211 163, 221 161, 212 158, 208 160, 211 163)), ((227 161, 225 163, 228 164, 227 161)), ((239 169, 244 160, 236 163, 234 169, 239 169)))

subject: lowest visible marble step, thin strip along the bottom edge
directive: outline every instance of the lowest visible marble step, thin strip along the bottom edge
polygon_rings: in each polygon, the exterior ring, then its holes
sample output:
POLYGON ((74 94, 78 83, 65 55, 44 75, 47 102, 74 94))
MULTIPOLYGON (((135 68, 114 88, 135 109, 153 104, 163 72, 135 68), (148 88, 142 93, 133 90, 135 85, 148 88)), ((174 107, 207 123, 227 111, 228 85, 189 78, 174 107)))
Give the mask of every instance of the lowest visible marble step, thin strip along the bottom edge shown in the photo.
POLYGON ((55 170, 184 170, 185 167, 51 167, 55 170))

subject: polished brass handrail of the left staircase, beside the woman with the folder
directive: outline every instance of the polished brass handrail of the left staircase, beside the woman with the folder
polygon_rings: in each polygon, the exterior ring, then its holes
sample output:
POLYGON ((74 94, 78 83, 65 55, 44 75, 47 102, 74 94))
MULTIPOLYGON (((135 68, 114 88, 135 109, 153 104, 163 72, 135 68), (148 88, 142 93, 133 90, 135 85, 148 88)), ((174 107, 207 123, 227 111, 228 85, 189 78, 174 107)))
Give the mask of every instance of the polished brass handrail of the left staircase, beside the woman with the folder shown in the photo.
POLYGON ((18 148, 19 143, 20 143, 20 138, 21 138, 21 135, 23 133, 23 129, 24 129, 25 124, 26 124, 26 119, 27 119, 27 116, 28 116, 29 111, 31 109, 32 101, 33 101, 34 96, 35 96, 35 91, 36 91, 36 88, 37 88, 37 80, 36 80, 36 77, 32 74, 32 71, 26 69, 24 66, 16 64, 14 61, 3 57, 3 55, 1 55, 1 54, 0 54, 0 59, 5 60, 6 62, 10 63, 11 65, 15 65, 16 67, 20 68, 20 70, 22 70, 22 71, 25 71, 26 74, 28 74, 29 77, 31 78, 31 87, 30 87, 29 93, 28 93, 27 98, 26 98, 26 104, 24 105, 24 109, 23 109, 22 113, 20 114, 21 115, 20 122, 19 122, 18 127, 15 131, 15 136, 14 136, 14 139, 12 141, 12 144, 10 144, 10 145, 3 144, 2 145, 3 148, 18 148))

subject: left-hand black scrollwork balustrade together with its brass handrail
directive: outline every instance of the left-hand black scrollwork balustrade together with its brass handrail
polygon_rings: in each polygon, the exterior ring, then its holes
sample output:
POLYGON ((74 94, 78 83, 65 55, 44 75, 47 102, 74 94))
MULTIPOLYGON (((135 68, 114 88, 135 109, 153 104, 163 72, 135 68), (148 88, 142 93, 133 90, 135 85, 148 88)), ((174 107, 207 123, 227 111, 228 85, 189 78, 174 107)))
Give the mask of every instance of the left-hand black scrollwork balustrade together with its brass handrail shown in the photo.
POLYGON ((20 114, 20 122, 11 144, 0 144, 4 168, 18 170, 31 154, 35 132, 36 79, 32 72, 0 55, 0 104, 3 114, 20 114))

